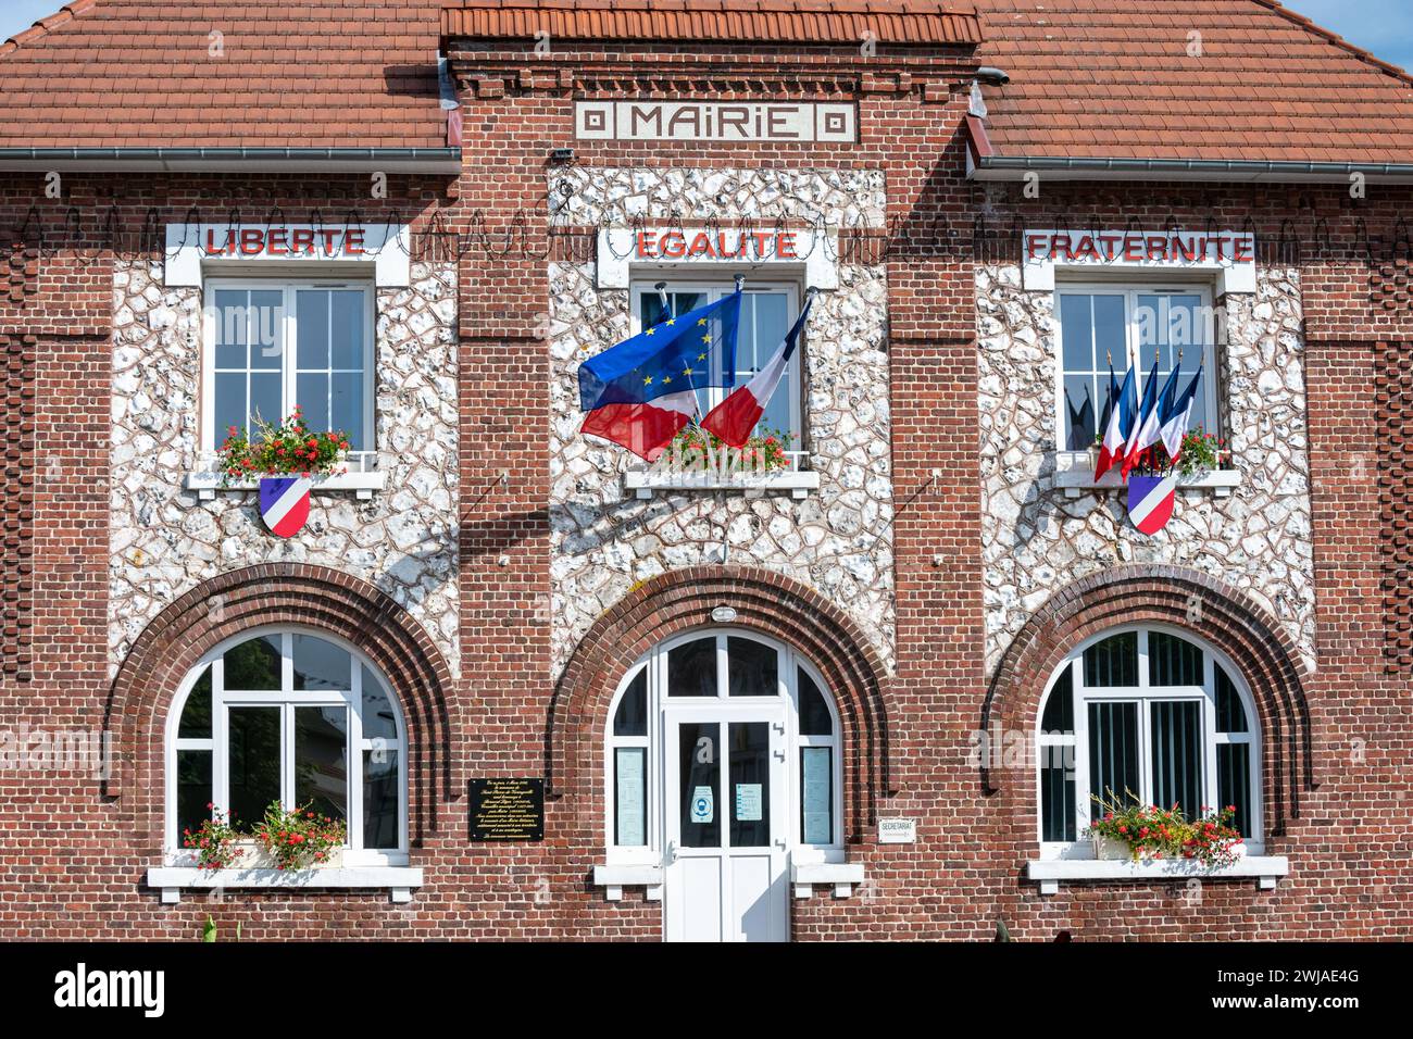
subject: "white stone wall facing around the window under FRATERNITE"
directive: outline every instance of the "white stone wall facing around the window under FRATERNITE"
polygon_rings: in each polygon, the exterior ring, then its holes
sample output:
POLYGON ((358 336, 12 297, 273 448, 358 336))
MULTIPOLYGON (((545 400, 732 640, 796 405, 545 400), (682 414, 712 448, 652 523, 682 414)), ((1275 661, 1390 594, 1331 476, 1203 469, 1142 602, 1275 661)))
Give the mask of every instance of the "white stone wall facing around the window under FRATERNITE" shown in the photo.
POLYGON ((1056 489, 1054 295, 1015 264, 976 270, 986 667, 1070 582, 1123 563, 1169 563, 1248 592, 1314 666, 1314 573, 1299 271, 1262 267, 1255 295, 1226 297, 1229 498, 1177 495, 1156 537, 1121 493, 1056 489))

